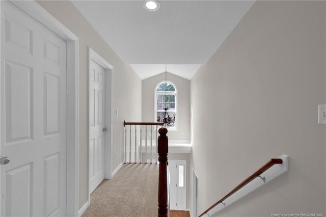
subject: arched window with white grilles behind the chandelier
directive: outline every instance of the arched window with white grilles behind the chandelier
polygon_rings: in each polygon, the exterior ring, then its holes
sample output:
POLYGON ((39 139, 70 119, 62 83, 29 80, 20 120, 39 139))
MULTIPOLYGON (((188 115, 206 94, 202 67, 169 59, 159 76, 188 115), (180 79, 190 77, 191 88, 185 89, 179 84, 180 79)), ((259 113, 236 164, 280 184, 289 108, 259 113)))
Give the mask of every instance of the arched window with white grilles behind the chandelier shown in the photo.
MULTIPOLYGON (((161 82, 155 89, 155 113, 157 117, 164 117, 167 108, 170 117, 173 119, 177 115, 177 89, 171 82, 161 82)), ((156 119, 157 120, 157 119, 156 119)), ((170 129, 176 129, 176 121, 170 129)))

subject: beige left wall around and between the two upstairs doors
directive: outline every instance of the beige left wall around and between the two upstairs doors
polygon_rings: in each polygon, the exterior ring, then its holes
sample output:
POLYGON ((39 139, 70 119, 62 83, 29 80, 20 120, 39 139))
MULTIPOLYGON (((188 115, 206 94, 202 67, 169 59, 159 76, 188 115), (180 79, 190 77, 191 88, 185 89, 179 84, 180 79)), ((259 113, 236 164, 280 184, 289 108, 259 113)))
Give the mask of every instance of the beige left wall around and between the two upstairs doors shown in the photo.
MULTIPOLYGON (((39 1, 79 38, 79 208, 88 198, 88 46, 114 67, 112 171, 123 161, 123 120, 141 121, 142 81, 69 1, 39 1), (118 152, 117 159, 115 153, 118 152)), ((107 26, 110 28, 110 26, 107 26)))

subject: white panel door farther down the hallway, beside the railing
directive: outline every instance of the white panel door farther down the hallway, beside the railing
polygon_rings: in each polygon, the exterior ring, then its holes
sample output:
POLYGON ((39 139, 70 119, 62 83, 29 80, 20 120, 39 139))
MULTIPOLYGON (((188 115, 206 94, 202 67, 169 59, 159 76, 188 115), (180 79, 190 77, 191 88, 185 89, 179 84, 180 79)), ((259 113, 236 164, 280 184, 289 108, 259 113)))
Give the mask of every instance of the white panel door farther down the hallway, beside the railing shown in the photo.
POLYGON ((104 179, 104 93, 105 69, 90 61, 90 193, 104 179))

